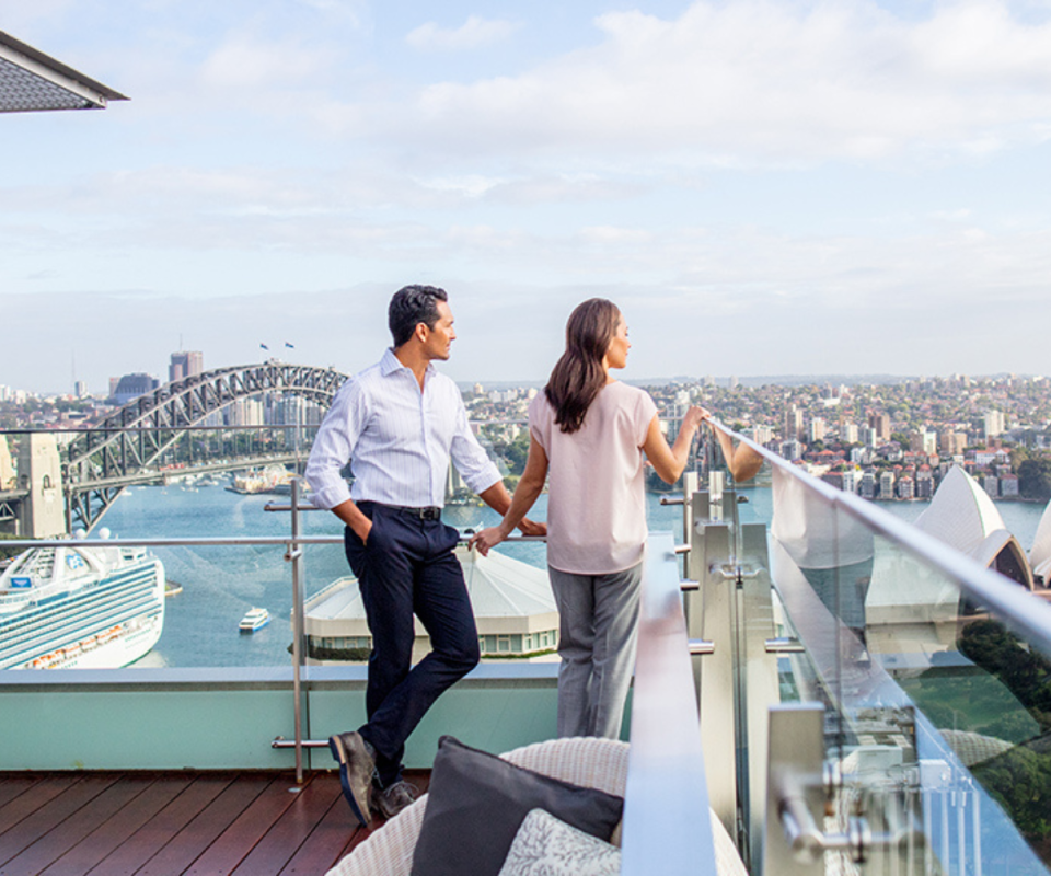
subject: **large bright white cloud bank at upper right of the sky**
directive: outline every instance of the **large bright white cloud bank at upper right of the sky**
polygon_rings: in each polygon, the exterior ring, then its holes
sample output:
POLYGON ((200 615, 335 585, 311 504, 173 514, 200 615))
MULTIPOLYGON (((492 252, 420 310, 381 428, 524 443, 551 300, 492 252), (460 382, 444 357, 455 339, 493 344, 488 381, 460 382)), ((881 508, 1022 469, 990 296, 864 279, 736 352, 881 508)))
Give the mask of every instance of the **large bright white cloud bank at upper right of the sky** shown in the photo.
POLYGON ((402 120, 474 160, 881 162, 1049 136, 1051 24, 998 0, 936 4, 919 21, 871 0, 740 0, 594 24, 599 45, 518 76, 431 83, 402 120))

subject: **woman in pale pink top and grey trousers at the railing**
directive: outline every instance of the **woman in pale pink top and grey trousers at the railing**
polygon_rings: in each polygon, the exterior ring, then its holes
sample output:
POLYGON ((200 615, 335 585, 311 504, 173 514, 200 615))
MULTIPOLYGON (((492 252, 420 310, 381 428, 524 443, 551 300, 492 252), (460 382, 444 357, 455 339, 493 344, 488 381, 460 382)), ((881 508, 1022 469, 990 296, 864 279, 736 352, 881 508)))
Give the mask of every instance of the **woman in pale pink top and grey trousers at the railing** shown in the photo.
POLYGON ((619 738, 635 664, 646 499, 643 452, 671 484, 708 412, 691 407, 673 447, 649 394, 611 376, 627 365, 627 325, 601 298, 566 325, 566 351, 529 407, 529 459, 499 526, 471 540, 483 555, 506 539, 550 476, 547 566, 558 607, 558 735, 619 738))

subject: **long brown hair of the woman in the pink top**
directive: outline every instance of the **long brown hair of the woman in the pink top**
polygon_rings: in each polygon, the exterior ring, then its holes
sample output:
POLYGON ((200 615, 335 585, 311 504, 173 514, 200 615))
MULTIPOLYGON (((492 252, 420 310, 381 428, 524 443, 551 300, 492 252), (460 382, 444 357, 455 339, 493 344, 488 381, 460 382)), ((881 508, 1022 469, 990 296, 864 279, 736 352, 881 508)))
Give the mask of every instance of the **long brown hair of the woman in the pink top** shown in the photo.
POLYGON ((577 431, 584 417, 605 385, 602 359, 616 332, 621 311, 604 298, 589 298, 569 314, 566 351, 555 362, 544 395, 555 411, 555 423, 566 434, 577 431))

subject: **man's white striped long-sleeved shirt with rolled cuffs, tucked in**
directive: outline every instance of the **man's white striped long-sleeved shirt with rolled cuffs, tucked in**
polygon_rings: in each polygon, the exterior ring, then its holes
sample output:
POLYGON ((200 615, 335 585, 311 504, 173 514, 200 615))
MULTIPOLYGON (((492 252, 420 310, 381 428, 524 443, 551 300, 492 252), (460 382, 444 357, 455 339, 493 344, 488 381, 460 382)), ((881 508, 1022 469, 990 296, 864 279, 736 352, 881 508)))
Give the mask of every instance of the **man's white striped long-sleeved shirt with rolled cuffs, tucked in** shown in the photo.
POLYGON ((444 505, 449 458, 482 493, 500 474, 471 433, 457 384, 427 366, 424 388, 393 350, 336 393, 307 463, 313 503, 353 498, 412 508, 444 505), (350 460, 353 489, 339 476, 350 460))

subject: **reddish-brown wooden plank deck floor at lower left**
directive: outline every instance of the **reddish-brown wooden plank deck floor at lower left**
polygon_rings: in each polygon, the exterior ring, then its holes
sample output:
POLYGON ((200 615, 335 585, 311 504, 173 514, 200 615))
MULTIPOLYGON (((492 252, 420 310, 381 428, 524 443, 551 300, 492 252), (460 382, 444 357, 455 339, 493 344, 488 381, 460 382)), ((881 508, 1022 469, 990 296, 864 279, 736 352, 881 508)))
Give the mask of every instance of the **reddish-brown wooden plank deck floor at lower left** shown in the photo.
POLYGON ((370 830, 336 772, 0 773, 2 876, 321 876, 370 830))

